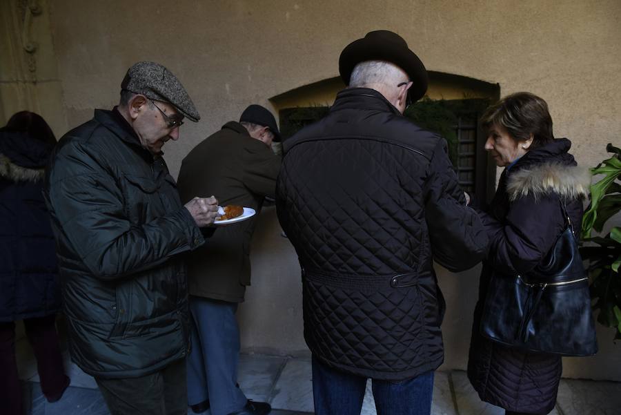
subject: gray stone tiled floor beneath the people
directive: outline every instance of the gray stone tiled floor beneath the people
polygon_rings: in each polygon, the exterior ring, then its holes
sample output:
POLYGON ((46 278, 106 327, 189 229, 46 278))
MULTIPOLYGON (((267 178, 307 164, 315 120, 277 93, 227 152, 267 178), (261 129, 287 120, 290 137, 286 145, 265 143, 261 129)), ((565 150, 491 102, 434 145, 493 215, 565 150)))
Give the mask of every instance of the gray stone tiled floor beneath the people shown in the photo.
MULTIPOLYGON (((36 363, 19 356, 24 383, 24 399, 32 415, 108 415, 95 381, 66 360, 71 386, 57 403, 48 403, 41 394, 36 363)), ((248 398, 268 401, 273 415, 313 413, 311 360, 263 355, 242 355, 239 384, 248 398)), ((192 412, 188 411, 188 414, 192 412)), ((375 415, 371 385, 367 384, 362 415, 375 415)), ((433 415, 503 415, 503 409, 481 402, 463 371, 435 374, 433 415)), ((558 404, 552 415, 619 415, 621 383, 590 380, 561 381, 558 404)), ((205 415, 210 415, 205 412, 205 415)))

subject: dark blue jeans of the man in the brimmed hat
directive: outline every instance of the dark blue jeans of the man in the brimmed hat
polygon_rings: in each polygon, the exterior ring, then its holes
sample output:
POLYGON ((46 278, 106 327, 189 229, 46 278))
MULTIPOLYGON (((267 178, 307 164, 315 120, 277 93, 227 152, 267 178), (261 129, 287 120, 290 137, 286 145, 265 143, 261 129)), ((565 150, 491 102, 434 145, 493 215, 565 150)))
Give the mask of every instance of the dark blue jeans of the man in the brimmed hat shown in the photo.
MULTIPOLYGON (((332 369, 313 356, 315 415, 360 415, 366 378, 332 369)), ((429 415, 433 371, 391 382, 373 379, 377 415, 429 415)))

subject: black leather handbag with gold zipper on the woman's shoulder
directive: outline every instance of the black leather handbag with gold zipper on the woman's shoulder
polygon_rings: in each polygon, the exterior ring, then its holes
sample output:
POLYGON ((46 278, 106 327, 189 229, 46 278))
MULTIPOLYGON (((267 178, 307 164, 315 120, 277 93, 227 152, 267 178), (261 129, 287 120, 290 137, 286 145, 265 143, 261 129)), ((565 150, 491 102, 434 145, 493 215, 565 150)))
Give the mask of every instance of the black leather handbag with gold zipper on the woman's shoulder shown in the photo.
POLYGON ((598 351, 589 278, 563 203, 562 210, 567 228, 538 267, 523 276, 491 277, 481 320, 486 338, 561 356, 598 351))

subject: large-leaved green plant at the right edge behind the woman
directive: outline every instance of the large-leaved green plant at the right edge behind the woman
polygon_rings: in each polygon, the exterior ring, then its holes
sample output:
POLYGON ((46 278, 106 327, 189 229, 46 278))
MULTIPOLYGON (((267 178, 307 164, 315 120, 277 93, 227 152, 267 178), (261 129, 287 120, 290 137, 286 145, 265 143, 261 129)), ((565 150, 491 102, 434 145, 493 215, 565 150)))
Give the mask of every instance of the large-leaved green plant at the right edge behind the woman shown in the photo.
MULTIPOLYGON (((582 219, 582 259, 588 262, 591 279, 593 309, 599 310, 598 322, 615 327, 615 340, 621 339, 621 226, 612 226, 607 235, 602 233, 606 222, 621 211, 621 150, 612 144, 606 146, 612 157, 597 167, 593 175, 603 175, 591 184, 591 204, 582 219)), ((618 218, 618 216, 616 216, 618 218)))

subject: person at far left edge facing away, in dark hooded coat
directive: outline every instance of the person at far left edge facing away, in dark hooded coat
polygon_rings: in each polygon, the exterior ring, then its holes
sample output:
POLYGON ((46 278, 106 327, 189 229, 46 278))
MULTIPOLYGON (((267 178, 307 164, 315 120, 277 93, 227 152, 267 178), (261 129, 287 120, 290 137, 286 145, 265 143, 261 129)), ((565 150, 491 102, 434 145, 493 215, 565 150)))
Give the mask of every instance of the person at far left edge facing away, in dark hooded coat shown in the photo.
POLYGON ((56 331, 60 293, 54 237, 41 194, 55 145, 48 123, 29 111, 0 128, 0 405, 7 415, 22 414, 15 321, 23 320, 47 400, 59 400, 70 382, 56 331))

